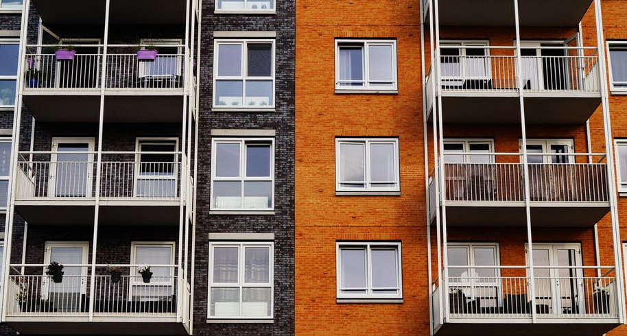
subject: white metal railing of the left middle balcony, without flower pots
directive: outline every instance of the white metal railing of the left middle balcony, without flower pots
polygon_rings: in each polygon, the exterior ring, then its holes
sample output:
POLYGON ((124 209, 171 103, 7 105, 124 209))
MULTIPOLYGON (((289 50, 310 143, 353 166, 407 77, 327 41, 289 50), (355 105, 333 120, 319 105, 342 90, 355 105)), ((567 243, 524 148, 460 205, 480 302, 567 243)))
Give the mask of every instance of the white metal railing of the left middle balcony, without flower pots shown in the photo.
MULTIPOLYGON (((19 156, 16 200, 90 200, 95 197, 95 152, 34 153, 38 160, 31 160, 24 153, 19 156), (82 156, 83 160, 71 156, 82 156)), ((178 200, 180 197, 179 152, 106 152, 102 157, 99 193, 102 199, 178 200), (171 160, 152 160, 155 155, 169 156, 171 160)))

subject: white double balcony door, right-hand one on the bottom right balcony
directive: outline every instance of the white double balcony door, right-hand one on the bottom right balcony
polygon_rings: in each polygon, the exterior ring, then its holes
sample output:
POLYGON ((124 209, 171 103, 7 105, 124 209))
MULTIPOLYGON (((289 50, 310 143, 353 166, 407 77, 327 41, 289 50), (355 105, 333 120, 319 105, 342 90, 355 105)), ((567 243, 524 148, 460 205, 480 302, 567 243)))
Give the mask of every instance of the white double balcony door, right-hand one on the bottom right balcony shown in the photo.
MULTIPOLYGON (((585 292, 579 244, 534 243, 534 297, 536 313, 583 313, 585 292)), ((528 250, 528 248, 525 248, 528 250)))

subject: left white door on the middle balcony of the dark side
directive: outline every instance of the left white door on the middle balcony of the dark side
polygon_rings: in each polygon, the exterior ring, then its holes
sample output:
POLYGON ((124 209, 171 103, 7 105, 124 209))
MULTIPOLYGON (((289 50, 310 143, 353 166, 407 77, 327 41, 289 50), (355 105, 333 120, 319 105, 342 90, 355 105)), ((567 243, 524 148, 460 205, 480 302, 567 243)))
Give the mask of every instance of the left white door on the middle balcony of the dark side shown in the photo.
POLYGON ((49 197, 91 197, 93 138, 53 138, 49 197))

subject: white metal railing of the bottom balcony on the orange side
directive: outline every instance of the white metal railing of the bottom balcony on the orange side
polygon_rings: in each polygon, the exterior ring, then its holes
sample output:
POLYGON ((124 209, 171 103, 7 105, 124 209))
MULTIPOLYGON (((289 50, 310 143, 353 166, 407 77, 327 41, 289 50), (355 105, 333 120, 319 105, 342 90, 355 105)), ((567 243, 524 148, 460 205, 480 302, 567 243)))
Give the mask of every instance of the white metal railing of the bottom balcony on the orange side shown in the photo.
POLYGON ((618 317, 613 267, 534 267, 532 304, 528 268, 449 266, 445 288, 451 317, 618 317), (532 307, 534 306, 534 307, 532 307))

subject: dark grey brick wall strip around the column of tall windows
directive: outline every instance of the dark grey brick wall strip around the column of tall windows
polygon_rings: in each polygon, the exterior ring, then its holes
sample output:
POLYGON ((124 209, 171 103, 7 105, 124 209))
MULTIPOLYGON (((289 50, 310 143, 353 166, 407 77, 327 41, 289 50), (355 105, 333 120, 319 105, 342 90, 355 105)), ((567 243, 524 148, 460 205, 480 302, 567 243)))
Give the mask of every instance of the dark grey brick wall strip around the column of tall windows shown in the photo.
POLYGON ((214 14, 202 1, 200 139, 196 217, 194 334, 294 334, 294 58, 295 1, 276 14, 214 14), (211 112, 214 31, 276 32, 276 112, 211 112), (210 215, 211 129, 276 130, 275 215, 210 215), (207 324, 209 232, 274 232, 274 324, 207 324))

